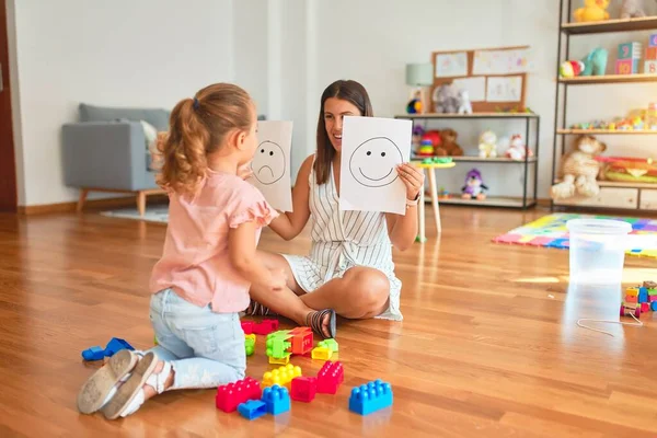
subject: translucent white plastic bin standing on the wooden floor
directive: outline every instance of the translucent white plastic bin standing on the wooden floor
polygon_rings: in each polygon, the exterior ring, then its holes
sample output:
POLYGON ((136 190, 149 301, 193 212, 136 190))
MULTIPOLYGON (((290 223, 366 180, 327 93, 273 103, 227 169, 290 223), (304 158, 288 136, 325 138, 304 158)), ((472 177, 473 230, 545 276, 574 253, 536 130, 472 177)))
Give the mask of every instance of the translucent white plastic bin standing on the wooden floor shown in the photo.
POLYGON ((570 284, 620 288, 632 226, 611 219, 572 219, 570 284))

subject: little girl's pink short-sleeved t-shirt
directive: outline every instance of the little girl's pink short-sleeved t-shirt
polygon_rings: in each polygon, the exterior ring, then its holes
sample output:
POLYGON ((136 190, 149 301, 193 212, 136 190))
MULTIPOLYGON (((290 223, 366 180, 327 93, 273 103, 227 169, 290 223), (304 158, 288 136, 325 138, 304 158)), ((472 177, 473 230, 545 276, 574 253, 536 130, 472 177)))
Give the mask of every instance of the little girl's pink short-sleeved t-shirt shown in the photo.
POLYGON ((187 301, 218 313, 249 307, 251 284, 232 266, 228 232, 255 221, 262 227, 278 212, 262 193, 237 175, 209 172, 196 199, 169 196, 169 227, 162 258, 153 267, 150 290, 172 288, 187 301))

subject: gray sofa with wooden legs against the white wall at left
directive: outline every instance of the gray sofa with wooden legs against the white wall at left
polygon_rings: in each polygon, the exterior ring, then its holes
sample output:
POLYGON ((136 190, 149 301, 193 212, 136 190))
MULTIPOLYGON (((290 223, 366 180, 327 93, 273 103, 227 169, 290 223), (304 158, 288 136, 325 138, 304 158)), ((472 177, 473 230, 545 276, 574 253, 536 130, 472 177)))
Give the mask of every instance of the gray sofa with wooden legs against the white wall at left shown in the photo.
POLYGON ((170 112, 162 108, 79 106, 79 122, 61 129, 65 183, 80 188, 78 210, 89 192, 137 195, 141 216, 146 196, 164 193, 149 169, 150 152, 140 120, 168 130, 170 112))

